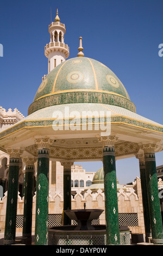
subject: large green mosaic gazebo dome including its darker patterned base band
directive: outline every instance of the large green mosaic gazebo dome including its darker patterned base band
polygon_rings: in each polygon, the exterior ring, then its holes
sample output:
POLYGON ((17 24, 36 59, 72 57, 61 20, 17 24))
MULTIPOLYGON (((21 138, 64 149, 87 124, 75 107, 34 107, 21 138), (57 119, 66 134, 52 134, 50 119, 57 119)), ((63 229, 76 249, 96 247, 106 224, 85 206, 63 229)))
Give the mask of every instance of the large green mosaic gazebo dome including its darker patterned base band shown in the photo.
POLYGON ((114 72, 86 57, 68 59, 53 69, 40 84, 28 114, 67 103, 104 103, 136 112, 114 72))

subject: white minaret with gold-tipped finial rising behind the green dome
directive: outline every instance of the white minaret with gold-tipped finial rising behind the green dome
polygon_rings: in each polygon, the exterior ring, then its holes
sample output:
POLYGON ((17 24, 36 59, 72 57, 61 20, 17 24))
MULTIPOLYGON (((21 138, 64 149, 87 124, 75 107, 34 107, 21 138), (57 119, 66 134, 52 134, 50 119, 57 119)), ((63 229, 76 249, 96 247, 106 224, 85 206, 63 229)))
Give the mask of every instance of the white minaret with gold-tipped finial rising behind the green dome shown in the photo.
POLYGON ((60 22, 58 8, 55 22, 49 25, 49 33, 51 41, 45 46, 45 56, 48 58, 48 73, 64 62, 69 56, 69 47, 64 42, 66 27, 65 24, 60 22))

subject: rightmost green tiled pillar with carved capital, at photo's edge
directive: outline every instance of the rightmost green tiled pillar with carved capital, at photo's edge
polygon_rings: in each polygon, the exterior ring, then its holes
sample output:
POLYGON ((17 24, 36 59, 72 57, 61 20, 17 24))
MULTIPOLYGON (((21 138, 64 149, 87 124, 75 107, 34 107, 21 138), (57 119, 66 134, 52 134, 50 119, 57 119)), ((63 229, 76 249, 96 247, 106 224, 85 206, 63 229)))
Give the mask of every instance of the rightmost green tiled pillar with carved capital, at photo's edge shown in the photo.
POLYGON ((145 154, 149 214, 151 216, 152 242, 154 244, 162 245, 162 218, 158 190, 158 178, 155 163, 156 147, 156 144, 143 144, 141 146, 145 154))

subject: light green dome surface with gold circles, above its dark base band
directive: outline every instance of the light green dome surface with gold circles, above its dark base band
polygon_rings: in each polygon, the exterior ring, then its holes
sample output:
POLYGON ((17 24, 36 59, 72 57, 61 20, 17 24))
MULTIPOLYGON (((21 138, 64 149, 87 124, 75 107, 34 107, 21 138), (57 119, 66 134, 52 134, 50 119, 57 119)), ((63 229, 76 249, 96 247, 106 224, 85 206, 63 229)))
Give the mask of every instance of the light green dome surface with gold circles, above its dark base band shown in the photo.
POLYGON ((61 63, 46 76, 34 101, 56 92, 88 89, 118 94, 129 99, 123 84, 108 67, 95 59, 76 57, 61 63))

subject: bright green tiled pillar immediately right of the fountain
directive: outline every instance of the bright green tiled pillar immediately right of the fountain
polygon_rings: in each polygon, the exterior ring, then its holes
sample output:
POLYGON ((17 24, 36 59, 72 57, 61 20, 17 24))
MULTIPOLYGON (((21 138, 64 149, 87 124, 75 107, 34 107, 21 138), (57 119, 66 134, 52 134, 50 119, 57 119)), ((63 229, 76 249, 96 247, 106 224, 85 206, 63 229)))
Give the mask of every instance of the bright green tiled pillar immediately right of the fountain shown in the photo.
POLYGON ((117 137, 100 137, 99 141, 103 142, 106 244, 120 245, 115 164, 115 142, 117 137))

